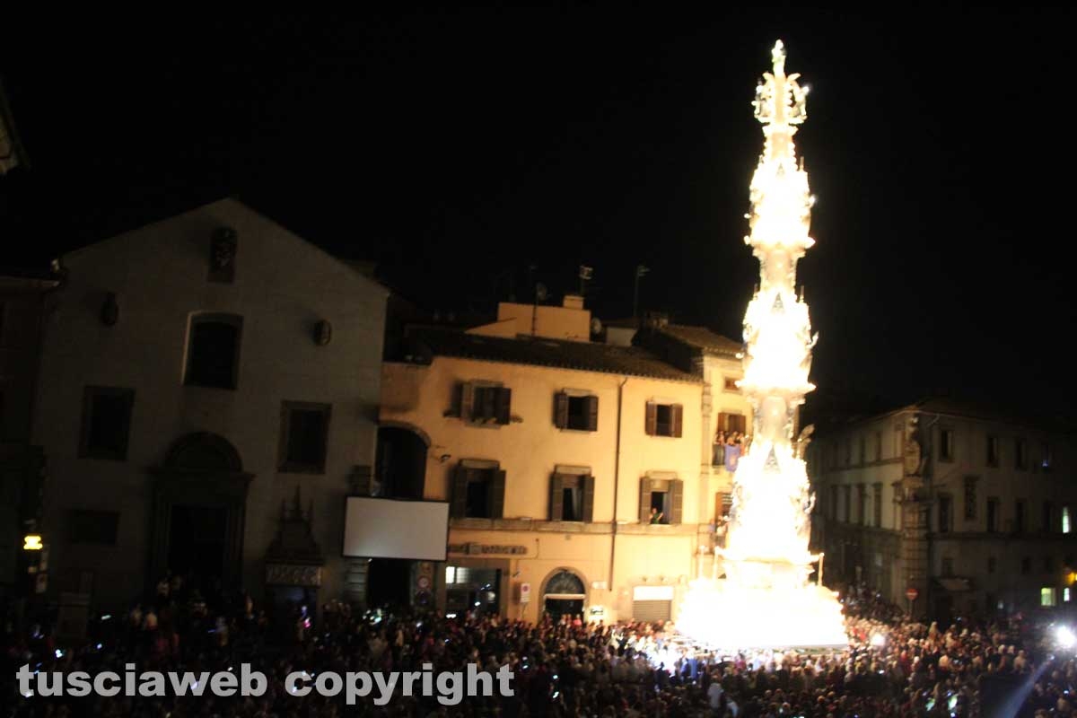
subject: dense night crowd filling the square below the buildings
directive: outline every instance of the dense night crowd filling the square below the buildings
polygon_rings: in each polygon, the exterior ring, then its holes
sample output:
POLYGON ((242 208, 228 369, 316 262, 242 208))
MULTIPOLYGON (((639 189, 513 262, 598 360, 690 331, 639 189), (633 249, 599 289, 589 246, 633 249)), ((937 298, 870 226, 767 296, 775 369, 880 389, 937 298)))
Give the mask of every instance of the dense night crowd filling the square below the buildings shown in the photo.
MULTIPOLYGON (((1073 650, 1058 651, 1041 622, 1020 616, 996 622, 955 620, 945 630, 909 621, 866 590, 843 596, 850 645, 830 651, 723 652, 694 646, 672 624, 586 623, 578 617, 538 623, 496 616, 352 613, 302 608, 284 635, 247 596, 211 610, 197 592, 165 591, 126 617, 95 622, 81 647, 57 645, 34 628, 6 631, 6 716, 140 716, 146 718, 306 718, 421 716, 467 718, 755 718, 796 716, 885 718, 992 715, 1072 716, 1077 690, 1073 650), (37 671, 123 673, 227 671, 241 663, 269 678, 261 698, 24 698, 11 678, 18 666, 37 671), (462 671, 468 663, 494 673, 508 665, 514 695, 479 696, 442 705, 436 695, 396 695, 388 705, 311 692, 290 695, 294 671, 462 671)), ((729 617, 729 620, 737 620, 729 617)), ((10 627, 9 627, 10 628, 10 627)))

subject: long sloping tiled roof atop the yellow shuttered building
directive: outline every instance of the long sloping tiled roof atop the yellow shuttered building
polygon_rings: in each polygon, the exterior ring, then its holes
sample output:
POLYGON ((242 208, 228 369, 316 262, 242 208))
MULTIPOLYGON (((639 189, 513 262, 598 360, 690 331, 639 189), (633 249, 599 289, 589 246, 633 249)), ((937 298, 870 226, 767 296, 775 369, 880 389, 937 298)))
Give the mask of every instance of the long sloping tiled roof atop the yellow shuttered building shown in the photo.
POLYGON ((700 382, 698 377, 681 371, 639 347, 527 336, 507 339, 429 328, 410 330, 408 338, 417 349, 429 350, 432 356, 700 382))

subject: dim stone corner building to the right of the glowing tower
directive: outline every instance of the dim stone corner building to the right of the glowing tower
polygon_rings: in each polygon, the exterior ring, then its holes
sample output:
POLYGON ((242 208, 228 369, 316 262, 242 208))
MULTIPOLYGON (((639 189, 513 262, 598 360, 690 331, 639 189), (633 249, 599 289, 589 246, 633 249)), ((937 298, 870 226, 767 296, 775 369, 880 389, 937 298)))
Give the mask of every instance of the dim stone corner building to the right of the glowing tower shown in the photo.
POLYGON ((1074 433, 949 399, 836 424, 808 448, 826 578, 919 616, 1077 600, 1074 433))

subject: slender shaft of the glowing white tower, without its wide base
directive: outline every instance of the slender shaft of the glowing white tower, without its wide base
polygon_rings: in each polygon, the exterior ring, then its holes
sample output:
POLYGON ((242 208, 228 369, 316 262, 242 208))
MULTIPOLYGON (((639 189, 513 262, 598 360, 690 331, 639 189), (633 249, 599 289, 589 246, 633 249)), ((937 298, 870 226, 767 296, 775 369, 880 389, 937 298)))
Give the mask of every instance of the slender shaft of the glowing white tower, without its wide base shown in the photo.
POLYGON ((733 478, 726 557, 805 564, 811 492, 793 432, 797 407, 814 389, 808 375, 816 337, 797 293, 797 261, 814 243, 808 236, 813 201, 793 136, 808 113, 799 74, 785 74, 781 41, 771 58, 773 70, 763 75, 753 102, 765 142, 752 178, 751 234, 744 238, 759 261, 759 284, 744 314, 740 382, 753 409, 752 450, 733 478))

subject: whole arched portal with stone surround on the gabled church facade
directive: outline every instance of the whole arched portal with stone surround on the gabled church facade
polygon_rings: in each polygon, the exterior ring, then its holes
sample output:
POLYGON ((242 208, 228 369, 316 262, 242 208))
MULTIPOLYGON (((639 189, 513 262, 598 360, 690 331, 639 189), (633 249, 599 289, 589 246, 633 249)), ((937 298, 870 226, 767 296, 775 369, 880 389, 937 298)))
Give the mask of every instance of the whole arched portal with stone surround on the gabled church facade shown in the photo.
POLYGON ((155 477, 153 544, 149 581, 171 573, 186 577, 207 600, 238 588, 247 490, 232 444, 215 434, 181 437, 169 448, 155 477))

